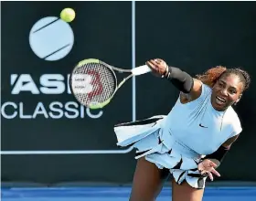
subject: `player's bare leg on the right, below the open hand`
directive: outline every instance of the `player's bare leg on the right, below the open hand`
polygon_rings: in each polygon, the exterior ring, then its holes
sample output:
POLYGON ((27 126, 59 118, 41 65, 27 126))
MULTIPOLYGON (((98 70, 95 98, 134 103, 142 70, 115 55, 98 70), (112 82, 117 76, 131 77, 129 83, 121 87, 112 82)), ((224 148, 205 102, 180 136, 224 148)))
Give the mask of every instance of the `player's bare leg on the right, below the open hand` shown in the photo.
POLYGON ((172 180, 172 195, 173 201, 201 201, 204 195, 204 189, 193 188, 183 182, 181 185, 176 184, 176 181, 172 180))

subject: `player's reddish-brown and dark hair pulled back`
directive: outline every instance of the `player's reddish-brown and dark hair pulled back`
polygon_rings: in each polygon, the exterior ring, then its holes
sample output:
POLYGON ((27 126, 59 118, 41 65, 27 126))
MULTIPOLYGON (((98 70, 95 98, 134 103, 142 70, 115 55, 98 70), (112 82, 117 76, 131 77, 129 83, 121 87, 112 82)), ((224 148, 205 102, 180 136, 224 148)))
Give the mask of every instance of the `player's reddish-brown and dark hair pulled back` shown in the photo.
POLYGON ((222 75, 230 75, 234 74, 240 78, 240 81, 243 83, 243 90, 247 90, 251 83, 250 75, 247 71, 243 69, 227 69, 223 66, 217 66, 211 69, 208 69, 205 73, 199 74, 196 76, 197 79, 201 80, 204 84, 208 85, 209 87, 213 87, 217 80, 222 75))

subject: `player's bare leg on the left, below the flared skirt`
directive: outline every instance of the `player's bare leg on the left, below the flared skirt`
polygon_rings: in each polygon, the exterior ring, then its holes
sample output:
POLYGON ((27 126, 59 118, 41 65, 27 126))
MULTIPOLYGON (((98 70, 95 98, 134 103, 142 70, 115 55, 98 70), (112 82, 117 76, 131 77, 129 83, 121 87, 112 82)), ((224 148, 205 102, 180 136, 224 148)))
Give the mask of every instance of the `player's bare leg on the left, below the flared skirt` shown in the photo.
POLYGON ((155 164, 140 158, 133 175, 130 201, 154 201, 168 173, 169 171, 158 169, 155 164))

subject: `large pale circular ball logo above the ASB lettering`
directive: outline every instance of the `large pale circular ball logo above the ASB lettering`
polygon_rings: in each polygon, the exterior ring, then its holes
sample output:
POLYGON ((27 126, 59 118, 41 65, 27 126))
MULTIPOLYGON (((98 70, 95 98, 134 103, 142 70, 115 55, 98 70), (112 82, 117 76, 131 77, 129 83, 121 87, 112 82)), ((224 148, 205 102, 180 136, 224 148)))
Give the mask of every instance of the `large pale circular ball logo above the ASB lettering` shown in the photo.
POLYGON ((59 17, 47 16, 31 28, 29 44, 38 58, 59 60, 67 56, 73 47, 73 30, 59 17))

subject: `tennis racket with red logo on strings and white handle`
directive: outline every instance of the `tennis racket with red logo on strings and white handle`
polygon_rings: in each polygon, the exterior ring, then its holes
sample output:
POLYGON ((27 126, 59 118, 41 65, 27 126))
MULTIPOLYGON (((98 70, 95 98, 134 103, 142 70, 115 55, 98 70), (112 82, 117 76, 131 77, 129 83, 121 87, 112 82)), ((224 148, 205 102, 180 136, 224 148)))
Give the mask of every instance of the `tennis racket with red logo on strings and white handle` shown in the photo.
POLYGON ((80 104, 100 109, 106 106, 123 83, 133 76, 150 72, 146 65, 134 69, 119 69, 99 59, 88 58, 80 61, 69 77, 69 87, 80 104), (118 83, 115 72, 127 73, 118 83))

